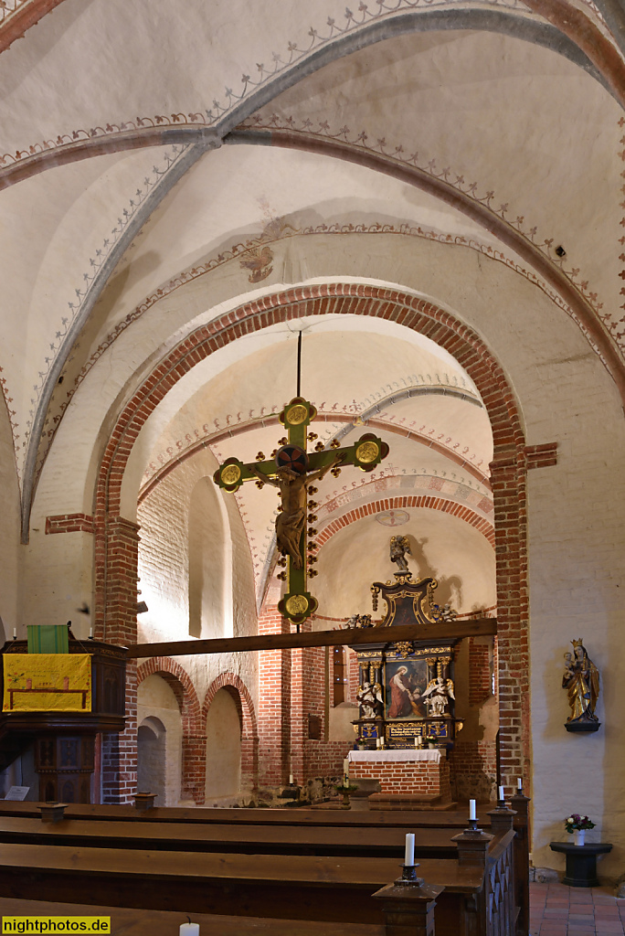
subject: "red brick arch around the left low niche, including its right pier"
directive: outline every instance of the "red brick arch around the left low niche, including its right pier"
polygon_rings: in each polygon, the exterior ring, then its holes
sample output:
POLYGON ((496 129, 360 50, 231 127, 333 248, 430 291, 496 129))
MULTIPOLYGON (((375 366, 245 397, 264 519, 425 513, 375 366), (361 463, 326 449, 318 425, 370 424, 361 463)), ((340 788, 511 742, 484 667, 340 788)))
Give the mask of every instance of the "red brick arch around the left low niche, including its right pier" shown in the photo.
POLYGON ((176 696, 182 719, 181 797, 193 799, 197 806, 201 806, 204 802, 206 730, 200 717, 196 688, 186 670, 167 656, 154 656, 138 666, 137 685, 148 676, 160 676, 176 696))

